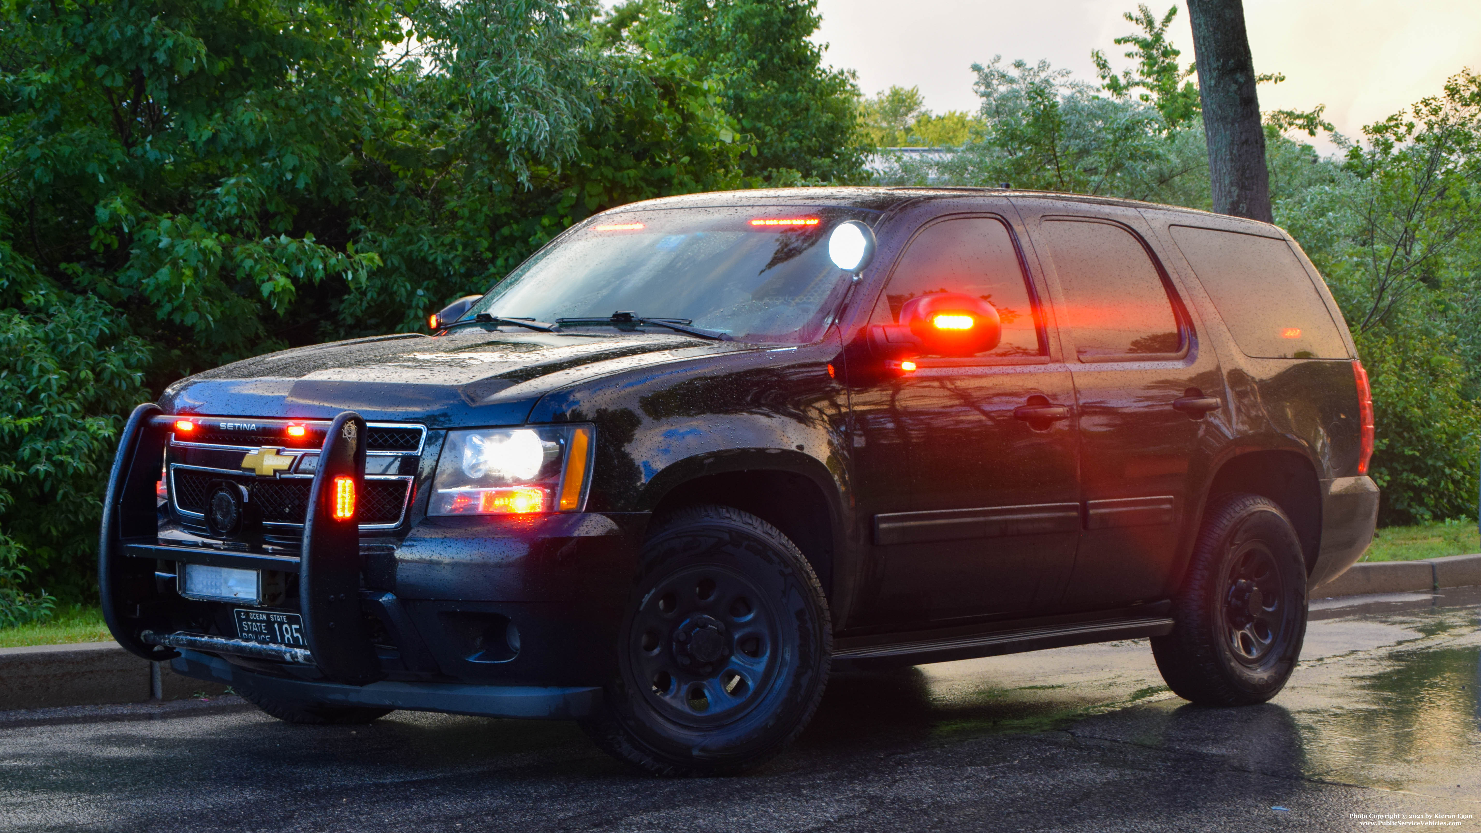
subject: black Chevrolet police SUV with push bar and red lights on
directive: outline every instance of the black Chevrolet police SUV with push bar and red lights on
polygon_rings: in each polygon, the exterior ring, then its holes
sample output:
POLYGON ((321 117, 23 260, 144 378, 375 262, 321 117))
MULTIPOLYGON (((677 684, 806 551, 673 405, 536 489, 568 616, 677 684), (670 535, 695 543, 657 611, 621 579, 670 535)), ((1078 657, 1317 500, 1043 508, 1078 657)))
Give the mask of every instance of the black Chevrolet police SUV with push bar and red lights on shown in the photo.
POLYGON ((400 333, 170 385, 108 485, 135 654, 299 723, 782 750, 834 666, 1151 637, 1269 700, 1373 535, 1367 378, 1280 228, 969 188, 695 194, 400 333))

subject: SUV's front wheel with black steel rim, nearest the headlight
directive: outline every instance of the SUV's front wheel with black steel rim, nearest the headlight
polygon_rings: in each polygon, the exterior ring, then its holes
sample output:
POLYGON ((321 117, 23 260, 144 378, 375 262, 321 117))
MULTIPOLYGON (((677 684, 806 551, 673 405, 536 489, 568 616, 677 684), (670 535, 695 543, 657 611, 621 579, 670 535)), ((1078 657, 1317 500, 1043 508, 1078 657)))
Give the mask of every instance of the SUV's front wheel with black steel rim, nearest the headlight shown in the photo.
POLYGON ((644 544, 618 679, 582 728, 652 775, 732 775, 801 734, 831 660, 828 600, 797 545, 736 508, 684 508, 644 544))

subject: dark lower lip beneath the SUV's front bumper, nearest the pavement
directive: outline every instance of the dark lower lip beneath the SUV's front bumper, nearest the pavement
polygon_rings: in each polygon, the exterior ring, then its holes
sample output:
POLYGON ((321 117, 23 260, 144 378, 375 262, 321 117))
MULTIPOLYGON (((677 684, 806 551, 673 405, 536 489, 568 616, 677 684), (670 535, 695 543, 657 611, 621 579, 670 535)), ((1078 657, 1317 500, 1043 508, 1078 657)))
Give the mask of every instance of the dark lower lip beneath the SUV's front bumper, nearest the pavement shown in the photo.
POLYGON ((446 711, 480 717, 544 717, 570 720, 588 717, 601 703, 597 686, 515 686, 468 683, 419 683, 382 680, 369 685, 344 685, 270 677, 246 671, 225 660, 188 648, 170 660, 176 673, 198 680, 222 682, 253 695, 329 703, 446 711))

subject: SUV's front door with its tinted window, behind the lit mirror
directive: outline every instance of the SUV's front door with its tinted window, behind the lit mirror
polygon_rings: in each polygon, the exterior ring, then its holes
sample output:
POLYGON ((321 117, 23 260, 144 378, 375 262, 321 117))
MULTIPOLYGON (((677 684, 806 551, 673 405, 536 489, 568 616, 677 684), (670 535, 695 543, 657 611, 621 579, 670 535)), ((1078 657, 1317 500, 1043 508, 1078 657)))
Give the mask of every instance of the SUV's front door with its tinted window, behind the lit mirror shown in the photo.
POLYGON ((1050 350, 1013 225, 936 219, 896 262, 871 323, 932 292, 991 302, 1003 341, 912 372, 850 359, 857 516, 869 525, 859 624, 932 624, 1029 609, 1057 594, 1080 535, 1069 369, 1050 350))

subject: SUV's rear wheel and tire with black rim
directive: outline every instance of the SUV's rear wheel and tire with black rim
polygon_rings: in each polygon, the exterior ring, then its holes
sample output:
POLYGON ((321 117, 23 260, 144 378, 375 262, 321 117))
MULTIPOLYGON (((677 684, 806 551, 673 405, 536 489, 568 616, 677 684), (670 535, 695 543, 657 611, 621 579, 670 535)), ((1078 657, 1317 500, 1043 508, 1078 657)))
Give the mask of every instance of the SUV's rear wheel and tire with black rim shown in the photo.
POLYGON ((1306 636, 1306 562, 1278 505, 1244 494, 1208 502, 1173 621, 1152 657, 1179 697, 1253 706, 1286 686, 1306 636))

